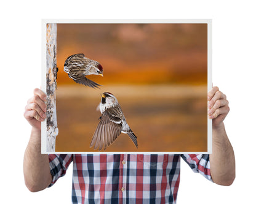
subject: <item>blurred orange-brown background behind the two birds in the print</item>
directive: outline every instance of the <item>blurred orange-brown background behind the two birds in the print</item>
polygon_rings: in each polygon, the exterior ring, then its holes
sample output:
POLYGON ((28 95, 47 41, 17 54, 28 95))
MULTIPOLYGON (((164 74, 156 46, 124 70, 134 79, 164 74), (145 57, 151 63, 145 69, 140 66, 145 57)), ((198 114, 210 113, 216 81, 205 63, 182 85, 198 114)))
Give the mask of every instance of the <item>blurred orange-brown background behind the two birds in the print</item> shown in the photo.
POLYGON ((207 151, 207 24, 57 24, 56 151, 89 152, 100 93, 119 100, 138 149, 121 134, 106 151, 207 151), (102 64, 93 89, 63 71, 84 53, 102 64))

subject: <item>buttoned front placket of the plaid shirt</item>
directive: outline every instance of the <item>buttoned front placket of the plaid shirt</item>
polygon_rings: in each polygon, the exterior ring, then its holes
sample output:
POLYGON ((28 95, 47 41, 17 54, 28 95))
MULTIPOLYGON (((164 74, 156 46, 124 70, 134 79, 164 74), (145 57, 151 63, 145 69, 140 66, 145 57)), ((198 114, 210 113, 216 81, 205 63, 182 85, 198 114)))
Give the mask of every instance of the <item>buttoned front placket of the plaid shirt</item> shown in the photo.
POLYGON ((119 167, 119 203, 126 203, 127 154, 121 155, 119 167))

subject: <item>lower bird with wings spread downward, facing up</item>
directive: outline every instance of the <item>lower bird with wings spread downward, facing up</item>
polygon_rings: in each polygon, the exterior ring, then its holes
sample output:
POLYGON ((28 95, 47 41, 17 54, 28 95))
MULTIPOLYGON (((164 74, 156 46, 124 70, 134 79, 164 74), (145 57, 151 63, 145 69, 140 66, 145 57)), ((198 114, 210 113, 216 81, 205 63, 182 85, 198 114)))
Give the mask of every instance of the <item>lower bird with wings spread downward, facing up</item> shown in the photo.
POLYGON ((105 92, 102 94, 102 100, 98 107, 102 116, 99 118, 100 122, 94 132, 90 147, 94 146, 94 149, 98 148, 98 151, 102 148, 105 150, 122 132, 129 135, 138 148, 137 137, 127 124, 121 106, 118 104, 118 99, 113 94, 105 92))

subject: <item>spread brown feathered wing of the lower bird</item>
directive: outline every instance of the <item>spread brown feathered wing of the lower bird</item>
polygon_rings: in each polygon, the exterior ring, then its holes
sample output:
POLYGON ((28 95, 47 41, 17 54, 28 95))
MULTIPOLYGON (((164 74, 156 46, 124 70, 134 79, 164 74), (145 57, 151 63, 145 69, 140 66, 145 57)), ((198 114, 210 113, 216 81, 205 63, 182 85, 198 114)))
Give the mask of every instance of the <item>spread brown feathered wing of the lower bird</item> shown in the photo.
POLYGON ((92 142, 90 142, 90 147, 94 146, 94 149, 98 148, 98 151, 100 151, 104 146, 105 150, 118 138, 121 134, 121 130, 122 124, 115 123, 113 119, 111 119, 110 111, 104 111, 92 137, 92 142))

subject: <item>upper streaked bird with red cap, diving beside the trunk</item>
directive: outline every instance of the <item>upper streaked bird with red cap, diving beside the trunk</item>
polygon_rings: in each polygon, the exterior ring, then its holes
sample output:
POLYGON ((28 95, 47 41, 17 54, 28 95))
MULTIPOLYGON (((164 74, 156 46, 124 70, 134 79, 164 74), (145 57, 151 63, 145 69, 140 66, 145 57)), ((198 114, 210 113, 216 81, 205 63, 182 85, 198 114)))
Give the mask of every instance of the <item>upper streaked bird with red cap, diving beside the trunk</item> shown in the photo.
POLYGON ((86 58, 84 54, 75 54, 66 58, 64 63, 64 72, 76 83, 98 88, 98 83, 86 78, 87 75, 100 75, 103 77, 103 67, 99 62, 86 58))

